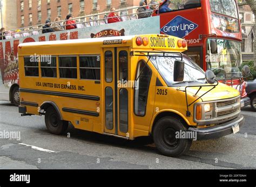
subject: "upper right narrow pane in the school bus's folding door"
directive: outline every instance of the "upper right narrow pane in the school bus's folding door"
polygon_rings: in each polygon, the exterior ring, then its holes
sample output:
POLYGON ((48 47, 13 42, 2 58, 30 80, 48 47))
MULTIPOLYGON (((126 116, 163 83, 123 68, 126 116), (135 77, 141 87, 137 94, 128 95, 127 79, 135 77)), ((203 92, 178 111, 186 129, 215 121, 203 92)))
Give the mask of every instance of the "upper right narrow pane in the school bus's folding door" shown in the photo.
POLYGON ((128 80, 128 53, 119 52, 119 80, 128 80))

